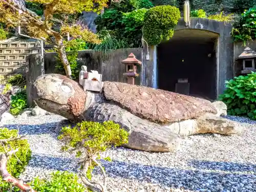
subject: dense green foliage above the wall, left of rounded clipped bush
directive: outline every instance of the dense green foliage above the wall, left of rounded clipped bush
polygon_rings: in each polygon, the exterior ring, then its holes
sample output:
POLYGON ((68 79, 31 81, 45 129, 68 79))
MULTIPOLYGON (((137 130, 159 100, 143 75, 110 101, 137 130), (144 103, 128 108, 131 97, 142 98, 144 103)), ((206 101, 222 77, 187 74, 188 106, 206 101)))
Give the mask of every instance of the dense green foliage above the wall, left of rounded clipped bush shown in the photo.
POLYGON ((113 2, 95 21, 102 37, 102 45, 96 45, 94 48, 141 47, 144 14, 152 7, 153 4, 149 0, 113 2))

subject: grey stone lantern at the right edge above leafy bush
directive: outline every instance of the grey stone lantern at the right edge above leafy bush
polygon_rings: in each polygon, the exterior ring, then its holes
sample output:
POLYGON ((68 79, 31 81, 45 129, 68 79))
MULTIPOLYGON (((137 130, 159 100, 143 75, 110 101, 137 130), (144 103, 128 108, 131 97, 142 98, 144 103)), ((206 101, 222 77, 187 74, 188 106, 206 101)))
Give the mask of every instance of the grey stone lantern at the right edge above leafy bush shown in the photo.
POLYGON ((251 71, 256 71, 255 64, 254 64, 254 61, 256 58, 256 52, 253 51, 251 48, 246 47, 243 53, 241 53, 241 55, 239 55, 238 58, 243 59, 242 74, 248 74, 248 73, 251 73, 251 71))

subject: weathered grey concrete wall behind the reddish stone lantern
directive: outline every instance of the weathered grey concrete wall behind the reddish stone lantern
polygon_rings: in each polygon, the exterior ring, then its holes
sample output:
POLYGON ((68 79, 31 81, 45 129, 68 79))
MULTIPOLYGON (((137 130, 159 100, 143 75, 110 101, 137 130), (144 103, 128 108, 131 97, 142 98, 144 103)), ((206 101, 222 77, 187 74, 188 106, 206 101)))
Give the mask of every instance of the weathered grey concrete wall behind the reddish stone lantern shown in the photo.
MULTIPOLYGON (((98 51, 85 50, 78 52, 78 62, 87 66, 88 71, 97 70, 102 74, 103 81, 126 82, 126 78, 122 76, 124 73, 124 65, 121 61, 133 53, 137 59, 142 61, 142 48, 119 49, 103 54, 98 51)), ((54 73, 56 65, 56 53, 45 54, 45 71, 46 73, 54 73)), ((138 73, 141 69, 138 67, 138 73)), ((141 78, 137 77, 135 83, 141 84, 141 78)))

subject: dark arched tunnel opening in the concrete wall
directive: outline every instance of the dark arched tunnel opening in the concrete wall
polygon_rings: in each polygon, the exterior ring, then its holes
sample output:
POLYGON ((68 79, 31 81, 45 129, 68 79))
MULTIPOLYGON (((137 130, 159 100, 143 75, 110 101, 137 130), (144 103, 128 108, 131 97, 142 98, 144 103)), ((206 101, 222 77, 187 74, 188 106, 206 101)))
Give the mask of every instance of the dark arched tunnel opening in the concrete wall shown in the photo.
POLYGON ((158 88, 215 100, 218 96, 219 34, 175 31, 157 47, 158 88))

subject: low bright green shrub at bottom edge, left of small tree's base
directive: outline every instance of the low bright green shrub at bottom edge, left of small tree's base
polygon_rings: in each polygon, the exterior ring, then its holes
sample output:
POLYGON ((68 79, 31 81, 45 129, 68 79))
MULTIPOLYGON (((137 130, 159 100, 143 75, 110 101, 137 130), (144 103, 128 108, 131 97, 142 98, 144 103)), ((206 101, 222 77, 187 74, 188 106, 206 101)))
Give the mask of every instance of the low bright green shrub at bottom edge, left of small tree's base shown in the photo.
POLYGON ((48 180, 35 178, 31 183, 31 187, 41 192, 84 192, 87 190, 78 182, 78 177, 69 172, 55 172, 48 180))

